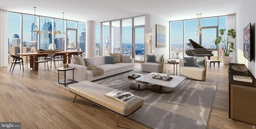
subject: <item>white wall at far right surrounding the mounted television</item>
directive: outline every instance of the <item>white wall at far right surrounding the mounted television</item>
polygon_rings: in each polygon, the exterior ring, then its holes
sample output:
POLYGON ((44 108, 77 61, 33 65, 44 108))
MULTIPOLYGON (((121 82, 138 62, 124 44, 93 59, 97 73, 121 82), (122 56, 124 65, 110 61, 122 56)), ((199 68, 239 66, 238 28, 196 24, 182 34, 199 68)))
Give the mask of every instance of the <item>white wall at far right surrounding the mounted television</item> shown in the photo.
POLYGON ((255 65, 255 40, 251 43, 254 44, 254 53, 252 53, 252 61, 248 61, 243 55, 243 31, 244 27, 249 23, 252 24, 252 38, 255 39, 255 23, 256 23, 256 0, 240 0, 238 4, 238 11, 236 13, 236 51, 238 63, 245 64, 255 77, 256 65, 255 65))

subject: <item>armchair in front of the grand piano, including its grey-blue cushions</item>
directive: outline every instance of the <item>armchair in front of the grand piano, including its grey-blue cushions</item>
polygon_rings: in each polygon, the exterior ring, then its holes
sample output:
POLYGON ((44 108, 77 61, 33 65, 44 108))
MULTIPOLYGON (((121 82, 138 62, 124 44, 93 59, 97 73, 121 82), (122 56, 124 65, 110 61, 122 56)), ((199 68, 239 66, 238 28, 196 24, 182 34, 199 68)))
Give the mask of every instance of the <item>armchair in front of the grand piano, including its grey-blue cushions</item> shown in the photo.
POLYGON ((205 57, 184 57, 179 61, 180 76, 188 79, 205 80, 207 62, 205 57))

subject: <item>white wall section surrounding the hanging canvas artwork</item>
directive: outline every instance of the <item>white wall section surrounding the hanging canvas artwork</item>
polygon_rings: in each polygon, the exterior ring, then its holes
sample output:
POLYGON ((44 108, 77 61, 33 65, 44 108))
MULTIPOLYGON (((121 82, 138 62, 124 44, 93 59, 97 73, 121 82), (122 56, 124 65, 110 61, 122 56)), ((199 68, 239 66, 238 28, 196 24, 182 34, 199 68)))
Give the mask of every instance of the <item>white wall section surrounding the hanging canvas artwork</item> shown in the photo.
POLYGON ((152 54, 162 55, 164 59, 169 59, 169 21, 163 20, 153 15, 145 15, 145 54, 150 54, 150 45, 148 40, 150 39, 150 28, 152 29, 152 54), (156 47, 156 24, 166 27, 166 47, 156 47), (147 44, 147 45, 146 45, 147 44))

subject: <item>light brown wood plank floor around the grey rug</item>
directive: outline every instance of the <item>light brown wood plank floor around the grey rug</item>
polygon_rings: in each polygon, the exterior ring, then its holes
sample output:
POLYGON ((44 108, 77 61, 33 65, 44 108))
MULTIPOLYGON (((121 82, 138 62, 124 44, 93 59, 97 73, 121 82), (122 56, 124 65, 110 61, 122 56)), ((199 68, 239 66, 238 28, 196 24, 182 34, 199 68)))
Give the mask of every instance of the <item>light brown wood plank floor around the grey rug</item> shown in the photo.
MULTIPOLYGON (((135 68, 140 64, 135 63, 135 68)), ((173 65, 166 65, 166 69, 172 72, 173 65)), ((148 129, 123 117, 116 127, 114 113, 79 97, 72 103, 74 95, 52 83, 58 80, 53 66, 49 70, 43 65, 38 71, 24 68, 23 72, 19 66, 13 73, 9 70, 10 66, 0 68, 0 122, 21 122, 22 129, 148 129)), ((220 68, 207 67, 206 78, 218 80, 207 129, 255 129, 254 125, 228 118, 227 70, 222 63, 220 68)), ((64 78, 64 73, 60 74, 64 78)))

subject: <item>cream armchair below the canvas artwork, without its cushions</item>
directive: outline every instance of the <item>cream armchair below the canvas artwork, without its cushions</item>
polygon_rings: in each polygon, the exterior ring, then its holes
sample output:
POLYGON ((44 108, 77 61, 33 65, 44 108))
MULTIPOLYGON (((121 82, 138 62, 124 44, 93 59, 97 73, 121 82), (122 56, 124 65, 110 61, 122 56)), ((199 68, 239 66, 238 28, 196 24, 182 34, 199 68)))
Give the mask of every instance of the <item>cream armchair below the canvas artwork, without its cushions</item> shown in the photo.
POLYGON ((141 57, 140 58, 140 68, 143 72, 158 72, 162 73, 164 68, 164 57, 162 57, 158 62, 156 63, 156 55, 154 56, 154 62, 146 62, 147 57, 141 57))

